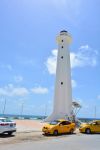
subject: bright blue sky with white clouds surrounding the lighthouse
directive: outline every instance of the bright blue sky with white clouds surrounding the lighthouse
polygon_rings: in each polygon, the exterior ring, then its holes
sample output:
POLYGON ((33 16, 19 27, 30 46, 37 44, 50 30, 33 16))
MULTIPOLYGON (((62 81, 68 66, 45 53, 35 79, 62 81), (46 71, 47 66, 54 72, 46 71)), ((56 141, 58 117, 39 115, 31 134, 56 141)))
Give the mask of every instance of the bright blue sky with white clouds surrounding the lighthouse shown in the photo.
POLYGON ((50 114, 56 36, 71 33, 73 99, 79 117, 100 117, 100 1, 0 1, 0 113, 50 114))

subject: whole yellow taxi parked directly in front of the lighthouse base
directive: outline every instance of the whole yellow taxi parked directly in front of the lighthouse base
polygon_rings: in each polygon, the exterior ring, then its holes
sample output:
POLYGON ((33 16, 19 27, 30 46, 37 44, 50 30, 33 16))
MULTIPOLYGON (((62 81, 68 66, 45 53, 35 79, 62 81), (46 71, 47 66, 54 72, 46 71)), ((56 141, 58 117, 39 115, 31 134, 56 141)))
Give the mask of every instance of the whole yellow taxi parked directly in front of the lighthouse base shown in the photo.
POLYGON ((42 128, 44 134, 58 135, 62 133, 73 133, 75 130, 75 123, 67 120, 55 120, 47 123, 42 128))

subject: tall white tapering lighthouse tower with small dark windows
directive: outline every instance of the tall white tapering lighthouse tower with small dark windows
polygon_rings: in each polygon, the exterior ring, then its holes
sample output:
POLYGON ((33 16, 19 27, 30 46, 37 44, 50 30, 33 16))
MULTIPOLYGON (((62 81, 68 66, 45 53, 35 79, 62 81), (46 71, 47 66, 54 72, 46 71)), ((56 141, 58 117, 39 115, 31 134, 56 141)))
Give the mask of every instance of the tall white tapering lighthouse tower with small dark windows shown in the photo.
POLYGON ((69 45, 72 41, 70 34, 63 30, 57 36, 58 56, 56 82, 54 93, 54 107, 52 114, 46 121, 66 119, 72 115, 72 87, 69 45))

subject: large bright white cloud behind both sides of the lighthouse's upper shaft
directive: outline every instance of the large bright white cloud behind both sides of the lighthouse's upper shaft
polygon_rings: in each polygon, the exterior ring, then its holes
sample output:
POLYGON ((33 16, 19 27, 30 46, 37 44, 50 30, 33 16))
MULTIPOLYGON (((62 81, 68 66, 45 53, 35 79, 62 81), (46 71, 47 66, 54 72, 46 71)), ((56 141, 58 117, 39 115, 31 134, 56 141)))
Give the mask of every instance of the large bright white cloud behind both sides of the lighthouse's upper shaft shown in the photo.
MULTIPOLYGON (((56 73, 57 49, 52 50, 51 56, 47 58, 46 67, 50 74, 56 73)), ((95 67, 97 65, 97 51, 90 48, 88 45, 83 45, 79 50, 70 53, 71 68, 76 67, 95 67)))

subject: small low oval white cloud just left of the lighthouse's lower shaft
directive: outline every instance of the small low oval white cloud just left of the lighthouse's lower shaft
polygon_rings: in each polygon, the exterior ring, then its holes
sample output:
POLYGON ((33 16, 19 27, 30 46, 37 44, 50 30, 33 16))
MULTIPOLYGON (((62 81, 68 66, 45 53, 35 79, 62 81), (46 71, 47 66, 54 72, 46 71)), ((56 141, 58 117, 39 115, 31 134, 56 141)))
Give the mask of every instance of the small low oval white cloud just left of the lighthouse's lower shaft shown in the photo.
POLYGON ((35 94, 46 94, 46 93, 48 93, 48 89, 45 87, 41 87, 41 86, 34 87, 31 89, 31 91, 35 94))

